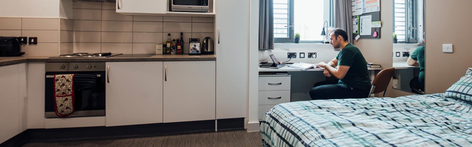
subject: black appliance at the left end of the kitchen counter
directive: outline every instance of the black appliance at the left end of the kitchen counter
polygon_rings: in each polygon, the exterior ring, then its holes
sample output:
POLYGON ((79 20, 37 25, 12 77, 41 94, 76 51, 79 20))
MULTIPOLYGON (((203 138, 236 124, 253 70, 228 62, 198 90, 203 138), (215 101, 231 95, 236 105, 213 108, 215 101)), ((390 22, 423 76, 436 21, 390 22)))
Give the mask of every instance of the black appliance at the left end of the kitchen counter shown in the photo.
POLYGON ((20 50, 18 37, 0 37, 0 57, 18 57, 25 54, 20 50))

